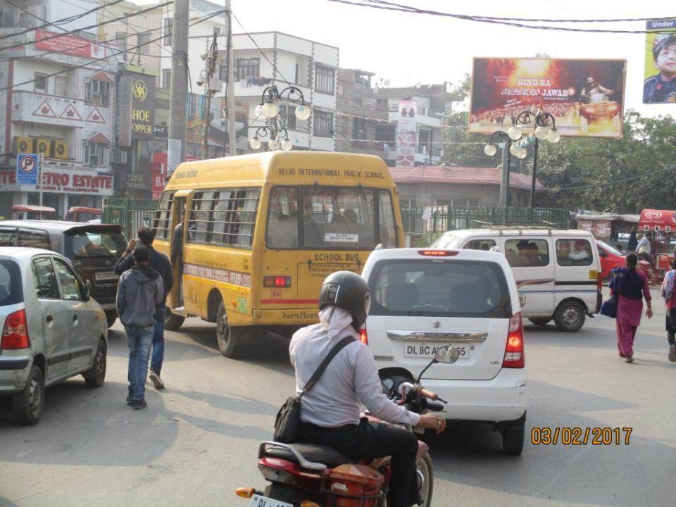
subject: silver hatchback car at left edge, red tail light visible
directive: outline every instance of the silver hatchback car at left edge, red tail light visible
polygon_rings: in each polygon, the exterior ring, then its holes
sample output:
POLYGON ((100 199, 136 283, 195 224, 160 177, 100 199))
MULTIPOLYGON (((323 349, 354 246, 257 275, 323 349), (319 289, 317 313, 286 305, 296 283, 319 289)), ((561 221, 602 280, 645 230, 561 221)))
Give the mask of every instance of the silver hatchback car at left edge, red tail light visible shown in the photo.
POLYGON ((106 313, 58 253, 0 247, 0 329, 0 395, 18 422, 37 423, 47 386, 80 374, 104 383, 106 313))

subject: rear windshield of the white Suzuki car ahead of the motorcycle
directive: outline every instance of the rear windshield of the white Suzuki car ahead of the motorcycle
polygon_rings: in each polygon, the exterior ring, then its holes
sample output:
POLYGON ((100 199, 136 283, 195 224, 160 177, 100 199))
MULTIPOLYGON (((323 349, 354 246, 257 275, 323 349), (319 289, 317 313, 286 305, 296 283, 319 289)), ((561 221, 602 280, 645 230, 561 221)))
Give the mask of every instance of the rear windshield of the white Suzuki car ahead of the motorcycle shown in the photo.
POLYGON ((497 263, 381 261, 370 289, 370 315, 511 318, 507 281, 497 263))

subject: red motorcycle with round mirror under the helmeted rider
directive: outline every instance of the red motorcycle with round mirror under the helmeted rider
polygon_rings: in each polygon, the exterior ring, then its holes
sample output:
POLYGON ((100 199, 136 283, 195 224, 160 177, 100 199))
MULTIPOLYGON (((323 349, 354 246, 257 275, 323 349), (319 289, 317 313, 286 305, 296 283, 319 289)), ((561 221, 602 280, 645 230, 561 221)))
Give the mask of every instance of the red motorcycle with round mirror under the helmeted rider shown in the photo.
MULTIPOLYGON (((409 411, 441 412, 446 401, 425 389, 420 379, 433 364, 455 363, 459 356, 455 347, 439 347, 413 382, 412 377, 403 375, 381 375, 383 392, 409 411)), ((373 422, 382 422, 368 413, 363 415, 373 422)), ((401 426, 408 431, 424 432, 411 425, 401 426)), ((423 507, 432 505, 434 485, 428 449, 425 442, 418 441, 416 478, 423 507)), ((253 487, 241 487, 235 492, 240 498, 249 499, 249 507, 387 507, 389 457, 358 461, 326 446, 261 442, 258 470, 270 482, 262 492, 253 487)))

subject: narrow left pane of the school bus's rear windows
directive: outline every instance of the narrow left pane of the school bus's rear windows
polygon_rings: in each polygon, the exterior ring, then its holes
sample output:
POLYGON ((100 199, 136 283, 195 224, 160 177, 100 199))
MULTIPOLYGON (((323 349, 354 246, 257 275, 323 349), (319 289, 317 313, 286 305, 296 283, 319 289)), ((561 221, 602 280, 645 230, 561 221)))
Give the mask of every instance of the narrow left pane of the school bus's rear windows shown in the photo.
POLYGON ((298 248, 298 190, 275 187, 270 192, 265 243, 271 249, 298 248))

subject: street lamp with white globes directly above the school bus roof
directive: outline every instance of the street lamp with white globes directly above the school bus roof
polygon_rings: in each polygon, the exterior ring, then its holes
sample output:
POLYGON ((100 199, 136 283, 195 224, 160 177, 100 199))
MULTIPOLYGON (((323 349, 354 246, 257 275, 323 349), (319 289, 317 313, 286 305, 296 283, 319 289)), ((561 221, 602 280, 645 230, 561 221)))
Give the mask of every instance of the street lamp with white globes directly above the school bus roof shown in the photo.
POLYGON ((261 94, 261 104, 258 104, 254 109, 256 118, 263 116, 268 120, 268 125, 258 127, 253 137, 249 139, 249 146, 251 149, 259 149, 261 147, 261 137, 269 137, 268 149, 283 149, 289 151, 293 147, 289 133, 285 123, 280 119, 280 101, 286 100, 296 106, 296 118, 299 120, 307 120, 310 118, 311 107, 306 104, 305 97, 301 89, 294 86, 289 86, 280 92, 273 84, 263 90, 261 94))

